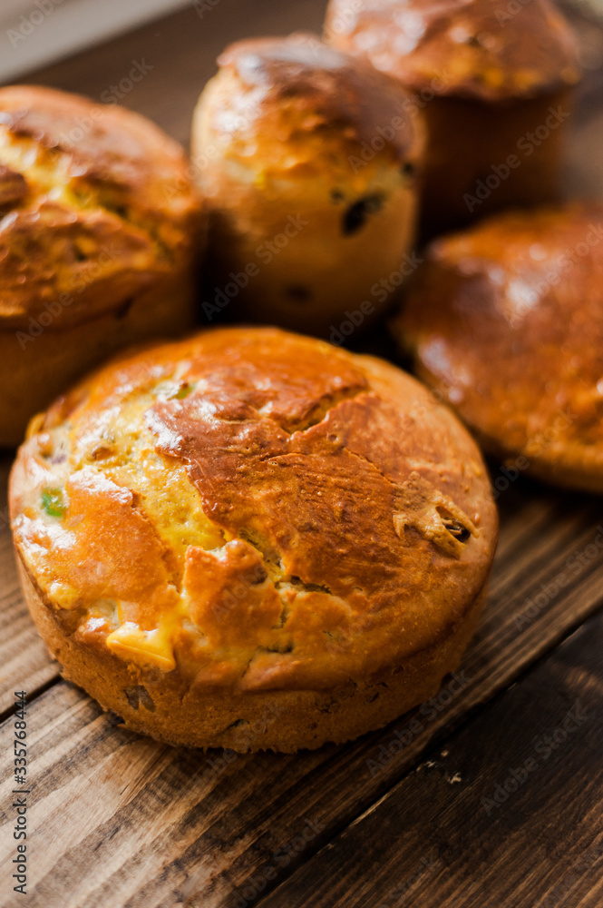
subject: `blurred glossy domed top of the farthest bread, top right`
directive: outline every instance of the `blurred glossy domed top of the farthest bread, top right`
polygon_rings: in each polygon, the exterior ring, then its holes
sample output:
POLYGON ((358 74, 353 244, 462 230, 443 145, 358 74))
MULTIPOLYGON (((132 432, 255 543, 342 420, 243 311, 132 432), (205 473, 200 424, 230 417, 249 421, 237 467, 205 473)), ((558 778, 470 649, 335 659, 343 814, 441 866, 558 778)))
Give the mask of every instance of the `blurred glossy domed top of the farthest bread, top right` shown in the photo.
POLYGON ((515 15, 501 0, 331 0, 325 35, 418 92, 502 101, 579 80, 575 35, 550 0, 515 15))

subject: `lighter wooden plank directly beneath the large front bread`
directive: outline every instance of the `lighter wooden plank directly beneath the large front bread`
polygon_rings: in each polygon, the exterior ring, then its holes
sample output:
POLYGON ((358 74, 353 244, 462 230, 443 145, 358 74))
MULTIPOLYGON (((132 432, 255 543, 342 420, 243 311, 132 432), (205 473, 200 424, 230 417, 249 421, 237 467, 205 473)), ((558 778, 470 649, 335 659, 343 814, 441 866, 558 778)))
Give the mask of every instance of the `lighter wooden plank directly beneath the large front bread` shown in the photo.
MULTIPOLYGON (((226 906, 300 829, 311 836, 306 847, 277 868, 266 890, 374 804, 426 746, 600 605, 598 501, 518 480, 500 503, 493 595, 463 662, 462 689, 445 684, 434 704, 382 732, 313 754, 243 755, 227 763, 221 752, 170 749, 131 735, 63 682, 38 697, 28 715, 28 904, 163 908, 196 895, 203 908, 226 906), (551 587, 537 600, 554 577, 558 592, 551 587)), ((1 753, 11 735, 9 721, 0 729, 1 753)), ((0 804, 10 803, 9 768, 2 767, 0 804)), ((10 812, 0 816, 0 880, 13 857, 10 824, 10 812)))

